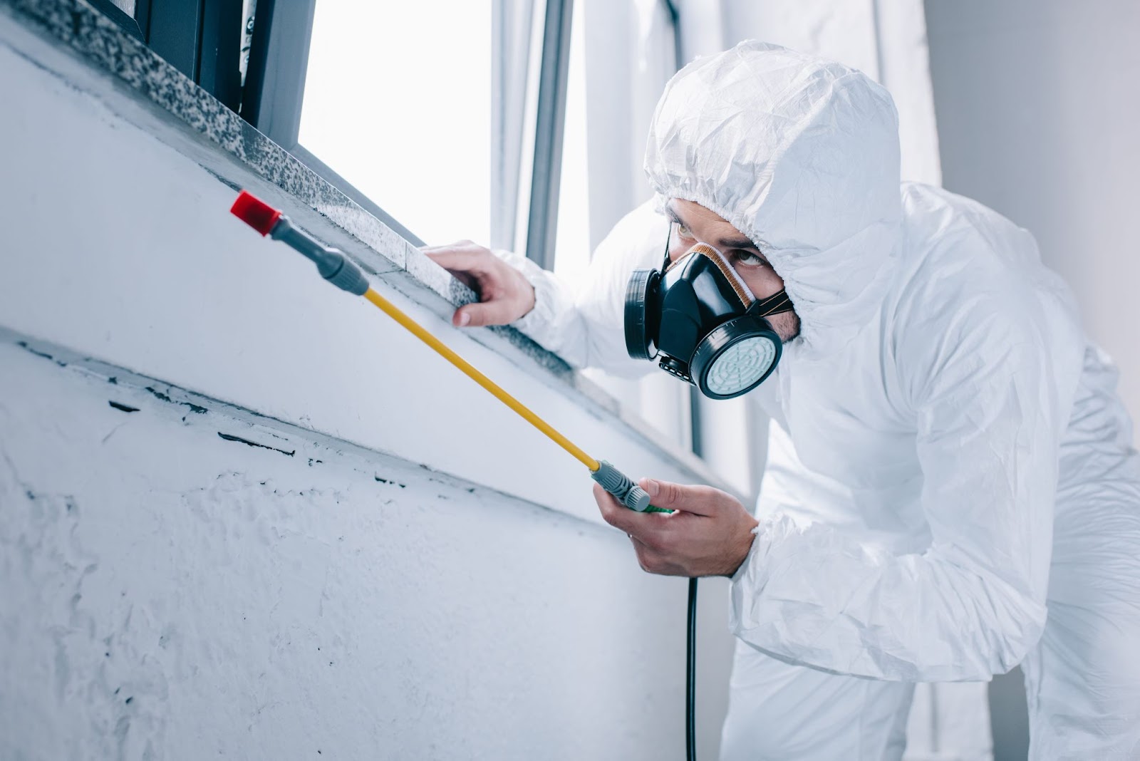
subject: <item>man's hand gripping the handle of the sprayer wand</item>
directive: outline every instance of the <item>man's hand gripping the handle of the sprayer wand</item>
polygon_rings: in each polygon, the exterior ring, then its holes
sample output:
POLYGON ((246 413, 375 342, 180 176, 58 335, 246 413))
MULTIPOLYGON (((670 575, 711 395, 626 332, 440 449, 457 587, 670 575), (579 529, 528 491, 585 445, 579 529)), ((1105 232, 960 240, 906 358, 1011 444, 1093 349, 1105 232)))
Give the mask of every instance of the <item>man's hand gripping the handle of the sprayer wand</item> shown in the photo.
POLYGON ((602 486, 594 499, 602 517, 629 535, 643 571, 668 576, 731 576, 752 547, 756 519, 734 497, 712 486, 683 486, 642 478, 654 507, 676 513, 636 513, 602 486))

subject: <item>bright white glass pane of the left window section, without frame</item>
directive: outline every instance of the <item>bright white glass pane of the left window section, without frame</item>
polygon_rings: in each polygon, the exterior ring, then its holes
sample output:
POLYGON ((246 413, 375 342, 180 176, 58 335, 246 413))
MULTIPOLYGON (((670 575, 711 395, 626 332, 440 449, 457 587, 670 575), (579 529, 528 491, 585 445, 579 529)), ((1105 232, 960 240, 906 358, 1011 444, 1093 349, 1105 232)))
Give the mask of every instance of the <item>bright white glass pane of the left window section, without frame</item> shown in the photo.
POLYGON ((299 142, 429 244, 490 234, 491 0, 317 2, 299 142))

